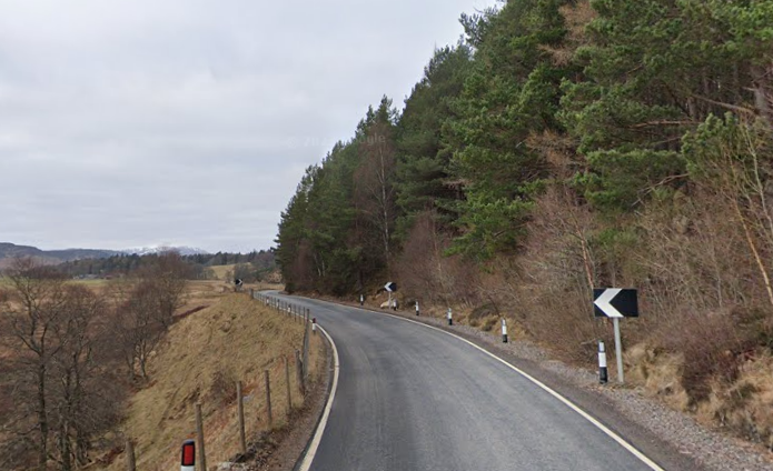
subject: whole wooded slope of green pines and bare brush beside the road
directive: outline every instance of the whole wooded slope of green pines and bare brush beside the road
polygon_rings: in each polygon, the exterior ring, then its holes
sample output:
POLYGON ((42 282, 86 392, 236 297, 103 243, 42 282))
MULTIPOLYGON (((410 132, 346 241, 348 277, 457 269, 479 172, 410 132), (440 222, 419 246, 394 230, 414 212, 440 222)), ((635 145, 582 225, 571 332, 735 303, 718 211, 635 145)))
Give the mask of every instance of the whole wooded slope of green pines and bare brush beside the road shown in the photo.
POLYGON ((284 211, 290 291, 454 305, 592 365, 640 290, 644 389, 773 445, 773 0, 511 0, 463 16, 284 211))

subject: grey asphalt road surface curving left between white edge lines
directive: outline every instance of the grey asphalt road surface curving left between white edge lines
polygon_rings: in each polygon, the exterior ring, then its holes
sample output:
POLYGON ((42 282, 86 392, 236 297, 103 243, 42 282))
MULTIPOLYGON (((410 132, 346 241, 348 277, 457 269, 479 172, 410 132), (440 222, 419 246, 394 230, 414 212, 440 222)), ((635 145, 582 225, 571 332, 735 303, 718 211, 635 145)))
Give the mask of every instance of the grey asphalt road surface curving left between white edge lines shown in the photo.
POLYGON ((452 335, 293 298, 340 377, 314 471, 652 470, 558 399, 452 335))

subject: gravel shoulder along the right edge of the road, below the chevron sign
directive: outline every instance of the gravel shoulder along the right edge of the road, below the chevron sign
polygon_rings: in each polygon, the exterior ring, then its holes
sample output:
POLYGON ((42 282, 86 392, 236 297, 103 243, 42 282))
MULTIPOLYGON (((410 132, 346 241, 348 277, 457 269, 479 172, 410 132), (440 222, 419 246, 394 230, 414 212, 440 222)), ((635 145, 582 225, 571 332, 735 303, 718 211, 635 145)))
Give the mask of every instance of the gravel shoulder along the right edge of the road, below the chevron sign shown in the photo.
MULTIPOLYGON (((361 309, 354 303, 326 300, 361 309)), ((690 415, 644 397, 637 389, 613 384, 602 387, 594 372, 552 359, 548 351, 532 342, 518 340, 502 343, 496 335, 468 325, 448 327, 442 319, 399 311, 375 312, 453 332, 502 357, 589 412, 664 469, 773 471, 773 455, 764 448, 707 429, 690 415)))

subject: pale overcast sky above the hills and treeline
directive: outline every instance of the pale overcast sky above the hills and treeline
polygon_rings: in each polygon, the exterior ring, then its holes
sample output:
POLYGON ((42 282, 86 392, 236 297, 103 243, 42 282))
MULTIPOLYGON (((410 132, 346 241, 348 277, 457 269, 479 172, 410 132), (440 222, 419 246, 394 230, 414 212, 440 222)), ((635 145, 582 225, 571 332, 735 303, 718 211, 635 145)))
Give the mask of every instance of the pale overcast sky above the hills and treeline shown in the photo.
POLYGON ((495 0, 0 0, 0 241, 274 244, 304 169, 495 0))

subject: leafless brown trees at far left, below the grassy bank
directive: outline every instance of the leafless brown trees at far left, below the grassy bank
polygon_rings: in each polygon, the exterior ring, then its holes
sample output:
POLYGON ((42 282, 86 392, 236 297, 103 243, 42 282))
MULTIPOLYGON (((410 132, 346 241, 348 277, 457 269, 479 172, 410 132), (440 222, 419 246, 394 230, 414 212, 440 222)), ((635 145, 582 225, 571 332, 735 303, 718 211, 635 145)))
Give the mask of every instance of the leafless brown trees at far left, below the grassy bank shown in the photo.
POLYGON ((149 360, 184 303, 176 253, 95 289, 16 259, 0 279, 0 469, 81 469, 147 384, 149 360))

